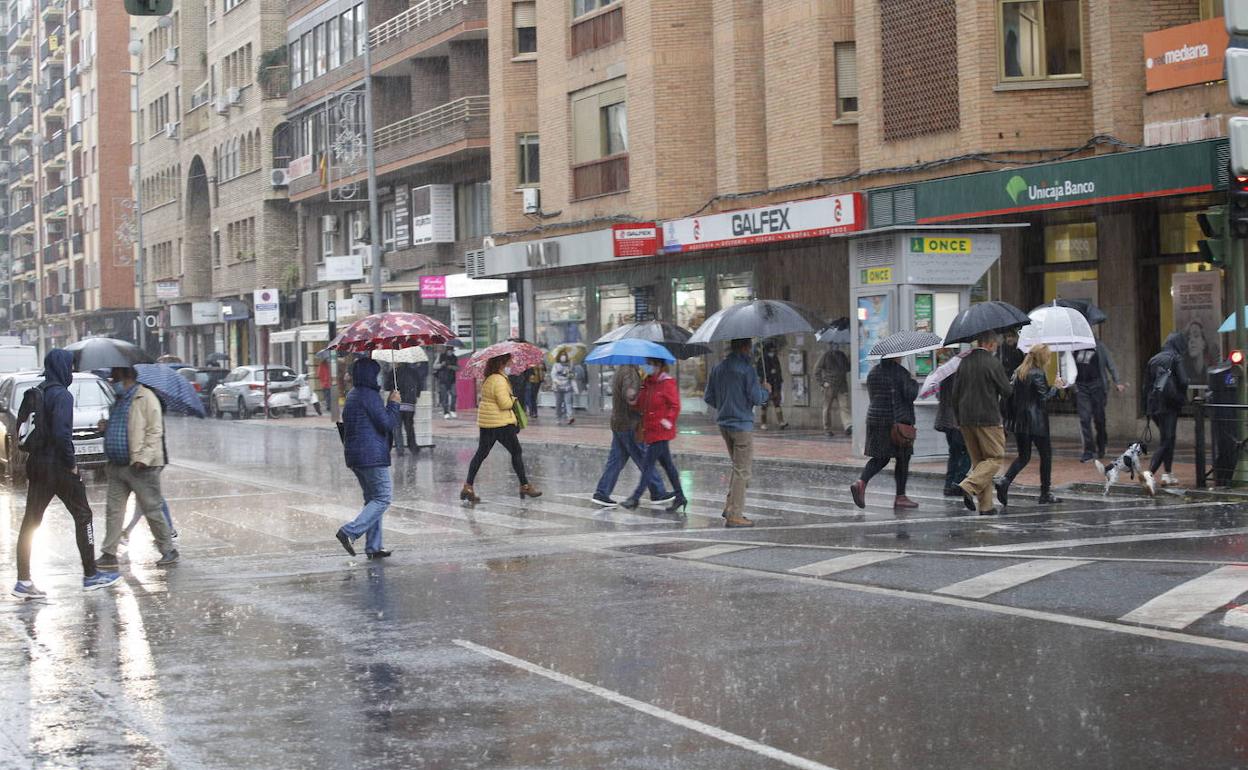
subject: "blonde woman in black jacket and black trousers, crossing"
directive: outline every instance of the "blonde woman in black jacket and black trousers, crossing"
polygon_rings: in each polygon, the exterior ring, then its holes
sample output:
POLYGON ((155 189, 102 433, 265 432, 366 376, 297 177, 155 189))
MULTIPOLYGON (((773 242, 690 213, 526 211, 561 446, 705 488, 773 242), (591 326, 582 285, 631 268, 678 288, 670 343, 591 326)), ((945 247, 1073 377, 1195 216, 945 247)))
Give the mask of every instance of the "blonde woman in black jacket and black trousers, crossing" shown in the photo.
POLYGON ((1060 503, 1050 492, 1053 483, 1053 446, 1048 441, 1048 411, 1045 403, 1066 387, 1061 377, 1048 387, 1048 376, 1045 367, 1051 358, 1047 344, 1037 344, 1027 352, 1022 363, 1015 369, 1013 382, 1013 434, 1018 442, 1018 457, 1015 459, 1005 477, 997 479, 997 499, 1002 505, 1008 505, 1010 484, 1022 473, 1022 469, 1031 462, 1031 448, 1036 447, 1040 453, 1040 504, 1051 505, 1060 503))

